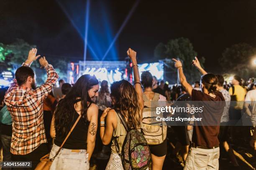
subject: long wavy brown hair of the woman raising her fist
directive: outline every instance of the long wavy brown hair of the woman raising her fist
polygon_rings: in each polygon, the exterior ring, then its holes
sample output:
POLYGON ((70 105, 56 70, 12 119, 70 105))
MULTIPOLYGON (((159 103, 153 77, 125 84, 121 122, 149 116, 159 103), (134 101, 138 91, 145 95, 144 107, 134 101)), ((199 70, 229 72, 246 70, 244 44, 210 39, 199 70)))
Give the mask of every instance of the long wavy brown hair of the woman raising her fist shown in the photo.
POLYGON ((114 82, 111 85, 111 96, 115 99, 115 108, 120 109, 124 117, 128 117, 129 128, 140 128, 141 109, 138 102, 138 94, 133 85, 127 80, 114 82))

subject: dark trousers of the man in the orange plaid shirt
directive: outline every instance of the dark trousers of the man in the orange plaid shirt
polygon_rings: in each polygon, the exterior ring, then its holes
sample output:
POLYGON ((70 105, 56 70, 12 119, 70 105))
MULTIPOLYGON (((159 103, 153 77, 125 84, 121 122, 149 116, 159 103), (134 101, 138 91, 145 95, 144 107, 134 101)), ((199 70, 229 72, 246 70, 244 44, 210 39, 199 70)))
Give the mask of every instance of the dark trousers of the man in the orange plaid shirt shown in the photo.
MULTIPOLYGON (((33 152, 28 153, 26 155, 13 155, 13 161, 32 161, 32 170, 36 168, 36 165, 40 162, 40 158, 48 153, 48 148, 46 143, 41 144, 33 150, 33 152)), ((27 170, 27 168, 13 168, 13 170, 27 170)))

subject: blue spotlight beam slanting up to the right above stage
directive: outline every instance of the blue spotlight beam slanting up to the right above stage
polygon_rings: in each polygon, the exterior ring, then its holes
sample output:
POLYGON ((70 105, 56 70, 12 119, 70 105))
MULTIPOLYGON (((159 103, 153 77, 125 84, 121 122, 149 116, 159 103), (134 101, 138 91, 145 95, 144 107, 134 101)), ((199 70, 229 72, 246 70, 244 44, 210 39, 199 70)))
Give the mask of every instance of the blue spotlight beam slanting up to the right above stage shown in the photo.
POLYGON ((108 52, 110 51, 111 47, 114 45, 115 41, 117 40, 117 38, 119 37, 120 33, 122 32, 123 28, 125 27, 126 23, 128 22, 128 20, 131 18, 131 15, 133 14, 134 10, 136 9, 136 7, 138 6, 138 3, 140 1, 137 0, 132 9, 130 10, 130 12, 128 13, 127 17, 125 18, 124 22, 122 23, 121 27, 119 28, 118 32, 116 33, 113 41, 110 43, 110 46, 108 47, 108 50, 105 52, 104 56, 102 57, 102 61, 105 59, 105 57, 108 55, 108 52))

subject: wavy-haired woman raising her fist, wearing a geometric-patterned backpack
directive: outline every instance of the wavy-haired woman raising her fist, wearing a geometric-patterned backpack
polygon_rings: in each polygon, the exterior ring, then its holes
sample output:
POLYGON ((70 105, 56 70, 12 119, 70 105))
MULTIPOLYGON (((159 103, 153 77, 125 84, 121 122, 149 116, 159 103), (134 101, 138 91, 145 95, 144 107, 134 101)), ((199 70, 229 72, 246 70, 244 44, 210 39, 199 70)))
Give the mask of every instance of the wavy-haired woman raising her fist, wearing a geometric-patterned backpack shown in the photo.
MULTIPOLYGON (((120 113, 125 117, 128 127, 140 128, 143 110, 143 93, 138 72, 136 52, 129 48, 127 54, 133 63, 134 87, 126 80, 114 82, 111 86, 111 97, 114 107, 119 109, 120 113)), ((121 152, 126 130, 115 110, 103 113, 100 117, 100 124, 100 138, 102 139, 102 143, 108 145, 113 138, 116 138, 118 142, 117 145, 119 145, 120 148, 119 152, 121 152), (108 116, 106 117, 107 114, 108 116), (104 125, 106 125, 106 127, 104 125)), ((121 158, 116 150, 114 140, 112 140, 111 150, 112 152, 106 170, 122 170, 121 158)))

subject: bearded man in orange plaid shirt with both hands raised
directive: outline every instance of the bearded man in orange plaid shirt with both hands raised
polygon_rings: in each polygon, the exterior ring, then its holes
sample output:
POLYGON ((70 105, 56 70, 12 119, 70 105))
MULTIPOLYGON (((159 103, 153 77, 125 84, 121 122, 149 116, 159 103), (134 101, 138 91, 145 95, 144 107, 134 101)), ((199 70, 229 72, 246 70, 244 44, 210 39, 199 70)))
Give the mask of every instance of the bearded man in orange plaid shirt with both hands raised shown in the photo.
POLYGON ((44 129, 43 100, 58 80, 58 74, 45 57, 39 62, 47 72, 47 80, 36 88, 36 75, 29 67, 40 55, 37 49, 28 53, 28 59, 15 72, 15 79, 5 95, 5 104, 13 119, 11 153, 13 161, 32 161, 32 168, 48 153, 44 129))

